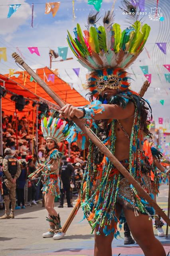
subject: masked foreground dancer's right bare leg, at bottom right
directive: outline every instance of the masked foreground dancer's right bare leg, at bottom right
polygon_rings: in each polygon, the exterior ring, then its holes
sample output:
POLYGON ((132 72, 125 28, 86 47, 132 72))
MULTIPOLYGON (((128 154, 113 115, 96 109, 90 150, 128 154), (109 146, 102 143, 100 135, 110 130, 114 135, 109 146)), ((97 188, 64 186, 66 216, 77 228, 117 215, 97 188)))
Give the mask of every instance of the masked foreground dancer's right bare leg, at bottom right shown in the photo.
POLYGON ((148 215, 140 214, 135 217, 132 210, 123 208, 128 226, 138 243, 143 250, 145 256, 166 256, 162 244, 155 238, 152 226, 152 220, 149 220, 148 215))

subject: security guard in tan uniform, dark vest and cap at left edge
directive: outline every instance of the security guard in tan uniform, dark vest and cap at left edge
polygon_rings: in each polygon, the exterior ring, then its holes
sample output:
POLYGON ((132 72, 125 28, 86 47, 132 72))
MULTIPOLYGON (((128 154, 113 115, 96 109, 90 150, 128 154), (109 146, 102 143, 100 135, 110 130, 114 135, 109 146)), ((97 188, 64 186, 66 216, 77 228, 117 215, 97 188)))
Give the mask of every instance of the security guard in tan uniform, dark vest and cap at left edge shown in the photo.
POLYGON ((4 154, 5 157, 2 162, 2 167, 4 172, 4 184, 6 185, 6 189, 3 189, 5 214, 0 217, 1 220, 14 218, 16 205, 16 179, 18 179, 21 173, 20 163, 15 157, 12 157, 11 149, 7 147, 4 154), (10 202, 11 214, 9 215, 10 202))

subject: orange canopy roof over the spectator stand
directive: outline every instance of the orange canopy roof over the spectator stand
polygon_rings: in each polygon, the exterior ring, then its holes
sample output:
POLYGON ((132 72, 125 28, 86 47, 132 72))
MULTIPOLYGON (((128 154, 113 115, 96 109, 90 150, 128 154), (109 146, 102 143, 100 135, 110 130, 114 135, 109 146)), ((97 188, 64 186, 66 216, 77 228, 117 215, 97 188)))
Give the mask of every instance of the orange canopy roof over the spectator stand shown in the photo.
MULTIPOLYGON (((37 69, 38 76, 56 93, 65 103, 74 105, 75 107, 87 105, 89 101, 83 98, 75 89, 59 78, 51 69, 44 67, 37 69), (48 81, 48 77, 52 76, 53 81, 48 81)), ((23 95, 30 100, 46 103, 50 106, 56 105, 51 97, 40 87, 36 81, 32 81, 32 77, 26 71, 18 71, 10 76, 9 74, 0 75, 0 85, 11 93, 23 95), (18 76, 19 75, 19 76, 18 76), (46 101, 46 102, 45 102, 46 101)), ((51 79, 52 80, 52 79, 51 79)), ((15 112, 15 102, 10 100, 11 95, 7 94, 2 98, 2 110, 15 112)), ((29 104, 32 107, 32 104, 29 104)), ((23 109, 24 111, 24 109, 23 109)))

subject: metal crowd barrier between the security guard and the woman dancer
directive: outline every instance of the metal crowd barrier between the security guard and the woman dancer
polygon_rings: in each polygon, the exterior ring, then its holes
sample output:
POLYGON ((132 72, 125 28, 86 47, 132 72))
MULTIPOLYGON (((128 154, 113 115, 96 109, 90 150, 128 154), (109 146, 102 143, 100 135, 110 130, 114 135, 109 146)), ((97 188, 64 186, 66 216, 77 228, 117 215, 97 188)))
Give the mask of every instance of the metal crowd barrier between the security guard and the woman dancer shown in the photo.
POLYGON ((25 205, 31 204, 32 200, 39 202, 42 200, 42 183, 40 178, 27 179, 24 188, 25 205), (38 185, 36 185, 38 183, 38 185))

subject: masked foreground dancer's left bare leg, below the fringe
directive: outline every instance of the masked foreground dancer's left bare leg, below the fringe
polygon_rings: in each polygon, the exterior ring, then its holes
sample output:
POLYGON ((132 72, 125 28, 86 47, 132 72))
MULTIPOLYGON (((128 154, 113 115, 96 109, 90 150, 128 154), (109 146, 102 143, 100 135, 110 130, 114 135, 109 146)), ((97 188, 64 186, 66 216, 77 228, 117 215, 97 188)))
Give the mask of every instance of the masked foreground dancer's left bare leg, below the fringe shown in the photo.
MULTIPOLYGON (((117 212, 117 217, 119 218, 121 214, 122 206, 117 204, 116 207, 116 212, 117 212)), ((114 227, 115 221, 112 221, 112 227, 114 227)), ((109 236, 105 236, 103 233, 103 229, 100 231, 100 236, 96 235, 96 232, 98 231, 97 226, 95 228, 95 251, 94 251, 94 256, 112 256, 112 241, 114 238, 114 234, 111 233, 109 236)))

